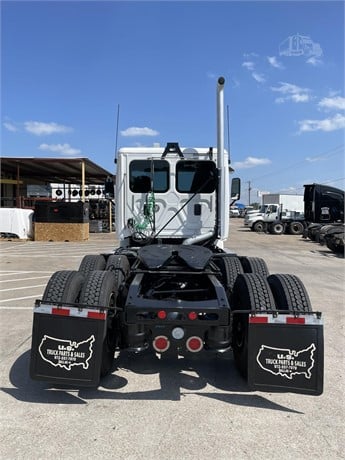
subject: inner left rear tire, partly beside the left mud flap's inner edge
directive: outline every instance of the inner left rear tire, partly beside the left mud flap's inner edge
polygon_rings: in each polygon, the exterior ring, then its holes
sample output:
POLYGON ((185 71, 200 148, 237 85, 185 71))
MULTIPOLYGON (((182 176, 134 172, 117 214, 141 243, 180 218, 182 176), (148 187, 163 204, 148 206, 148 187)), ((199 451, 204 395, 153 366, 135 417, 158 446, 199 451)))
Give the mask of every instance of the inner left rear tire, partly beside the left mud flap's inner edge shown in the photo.
POLYGON ((103 341, 101 377, 109 374, 114 360, 117 340, 114 325, 116 289, 114 273, 95 270, 89 274, 80 294, 81 304, 108 309, 107 330, 103 341))

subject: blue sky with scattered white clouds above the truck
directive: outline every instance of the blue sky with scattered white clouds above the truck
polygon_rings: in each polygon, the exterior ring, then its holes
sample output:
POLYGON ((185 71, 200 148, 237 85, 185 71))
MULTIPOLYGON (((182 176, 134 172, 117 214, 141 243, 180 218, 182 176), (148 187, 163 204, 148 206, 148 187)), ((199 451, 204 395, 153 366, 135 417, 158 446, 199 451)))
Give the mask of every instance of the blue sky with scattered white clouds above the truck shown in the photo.
POLYGON ((343 2, 2 1, 1 23, 3 156, 115 171, 118 105, 118 147, 216 146, 222 75, 241 201, 344 188, 343 2))

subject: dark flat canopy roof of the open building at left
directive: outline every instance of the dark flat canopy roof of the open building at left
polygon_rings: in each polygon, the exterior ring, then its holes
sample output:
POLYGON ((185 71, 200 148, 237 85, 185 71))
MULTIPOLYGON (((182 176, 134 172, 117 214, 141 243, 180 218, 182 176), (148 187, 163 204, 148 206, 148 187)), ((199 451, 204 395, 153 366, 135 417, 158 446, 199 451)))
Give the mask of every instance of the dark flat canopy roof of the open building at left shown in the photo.
POLYGON ((82 182, 82 164, 85 165, 85 181, 102 183, 114 174, 93 163, 88 158, 29 158, 1 157, 1 176, 13 179, 36 179, 45 183, 82 182))

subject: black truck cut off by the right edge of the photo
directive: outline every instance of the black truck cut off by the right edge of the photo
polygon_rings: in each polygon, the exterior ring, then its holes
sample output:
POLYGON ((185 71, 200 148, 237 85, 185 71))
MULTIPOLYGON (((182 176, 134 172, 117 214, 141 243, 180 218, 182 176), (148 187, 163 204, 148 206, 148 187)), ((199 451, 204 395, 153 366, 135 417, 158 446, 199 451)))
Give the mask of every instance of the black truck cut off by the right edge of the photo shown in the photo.
POLYGON ((344 190, 322 184, 304 186, 305 219, 303 233, 334 253, 344 254, 344 190))

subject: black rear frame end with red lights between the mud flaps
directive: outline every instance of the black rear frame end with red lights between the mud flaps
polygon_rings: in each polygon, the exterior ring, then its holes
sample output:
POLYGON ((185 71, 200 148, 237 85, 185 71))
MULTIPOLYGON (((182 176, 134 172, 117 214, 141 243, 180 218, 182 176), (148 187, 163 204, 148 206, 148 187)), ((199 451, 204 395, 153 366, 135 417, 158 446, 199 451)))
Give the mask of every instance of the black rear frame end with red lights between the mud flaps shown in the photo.
POLYGON ((189 337, 198 336, 206 348, 226 348, 231 342, 230 306, 225 290, 214 275, 209 275, 216 297, 203 301, 148 299, 141 295, 143 274, 135 276, 123 313, 124 342, 129 348, 152 343, 165 336, 171 347, 185 349, 189 337), (179 329, 183 338, 175 339, 179 329))

